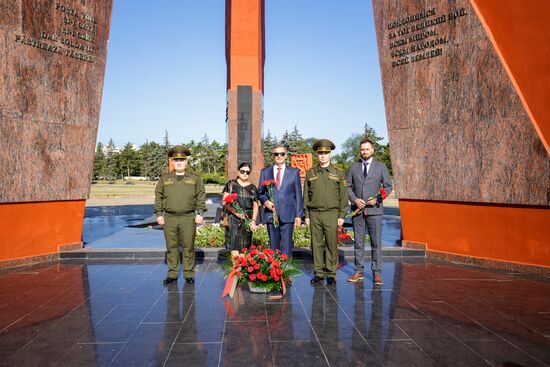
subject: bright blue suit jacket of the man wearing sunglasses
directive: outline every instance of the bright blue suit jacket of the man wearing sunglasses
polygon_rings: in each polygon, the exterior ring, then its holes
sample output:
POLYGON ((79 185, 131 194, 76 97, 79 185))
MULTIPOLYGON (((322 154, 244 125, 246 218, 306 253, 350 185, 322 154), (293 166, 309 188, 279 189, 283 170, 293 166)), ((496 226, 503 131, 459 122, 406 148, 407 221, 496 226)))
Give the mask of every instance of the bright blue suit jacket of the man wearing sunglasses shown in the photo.
MULTIPOLYGON (((281 187, 277 190, 273 187, 274 198, 269 197, 267 187, 262 186, 262 182, 273 180, 273 166, 266 167, 260 172, 260 182, 258 184, 258 197, 262 205, 267 200, 275 203, 275 209, 279 216, 279 220, 283 223, 294 222, 297 217, 304 216, 304 208, 302 205, 302 183, 300 181, 300 170, 292 168, 289 165, 285 166, 285 174, 281 181, 281 187)), ((264 211, 265 221, 273 222, 273 212, 267 208, 264 211)))

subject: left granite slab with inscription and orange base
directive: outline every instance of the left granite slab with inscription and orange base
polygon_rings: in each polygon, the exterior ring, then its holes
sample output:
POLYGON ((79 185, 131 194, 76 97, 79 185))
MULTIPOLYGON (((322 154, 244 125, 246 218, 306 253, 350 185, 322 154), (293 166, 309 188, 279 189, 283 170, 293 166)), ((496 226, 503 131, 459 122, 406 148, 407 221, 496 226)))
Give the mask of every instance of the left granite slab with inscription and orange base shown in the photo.
POLYGON ((111 0, 0 0, 0 263, 81 243, 111 0))

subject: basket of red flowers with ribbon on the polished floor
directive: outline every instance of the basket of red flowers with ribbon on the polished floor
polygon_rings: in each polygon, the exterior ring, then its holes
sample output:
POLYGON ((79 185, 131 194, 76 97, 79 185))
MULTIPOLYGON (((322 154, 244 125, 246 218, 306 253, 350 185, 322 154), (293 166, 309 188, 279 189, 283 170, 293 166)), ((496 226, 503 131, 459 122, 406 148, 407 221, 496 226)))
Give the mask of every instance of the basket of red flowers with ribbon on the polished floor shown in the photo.
POLYGON ((279 250, 250 246, 239 253, 231 251, 225 263, 227 283, 222 293, 233 297, 237 284, 247 283, 251 292, 281 291, 284 295, 290 277, 300 274, 293 259, 279 250))

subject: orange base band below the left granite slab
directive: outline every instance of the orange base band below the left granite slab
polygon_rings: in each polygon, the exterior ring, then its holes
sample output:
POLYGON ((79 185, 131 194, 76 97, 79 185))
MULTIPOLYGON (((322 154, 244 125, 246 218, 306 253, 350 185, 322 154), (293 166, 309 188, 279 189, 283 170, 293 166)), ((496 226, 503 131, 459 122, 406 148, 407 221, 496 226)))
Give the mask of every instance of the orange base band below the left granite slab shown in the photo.
POLYGON ((0 261, 80 243, 85 205, 85 200, 0 204, 0 261))

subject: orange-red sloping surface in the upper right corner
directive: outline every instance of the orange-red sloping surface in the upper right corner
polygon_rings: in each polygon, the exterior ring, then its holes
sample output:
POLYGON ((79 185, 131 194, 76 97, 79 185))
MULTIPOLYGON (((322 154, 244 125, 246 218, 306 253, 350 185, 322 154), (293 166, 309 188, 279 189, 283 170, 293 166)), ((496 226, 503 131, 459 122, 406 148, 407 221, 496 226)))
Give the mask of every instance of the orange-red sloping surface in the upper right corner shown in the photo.
POLYGON ((550 154, 550 1, 471 3, 550 154))

